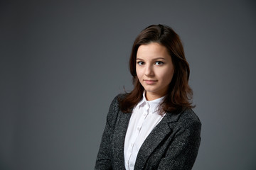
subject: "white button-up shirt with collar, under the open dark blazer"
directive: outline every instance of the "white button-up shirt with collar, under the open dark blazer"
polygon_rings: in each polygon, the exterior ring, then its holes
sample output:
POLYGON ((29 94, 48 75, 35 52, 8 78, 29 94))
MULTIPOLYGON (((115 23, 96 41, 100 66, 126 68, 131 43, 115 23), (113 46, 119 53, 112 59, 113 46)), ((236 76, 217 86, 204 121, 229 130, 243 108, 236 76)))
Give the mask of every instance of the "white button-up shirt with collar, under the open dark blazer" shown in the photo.
POLYGON ((144 92, 142 101, 134 107, 124 141, 125 169, 134 169, 139 148, 149 133, 164 118, 165 114, 159 115, 159 104, 163 99, 164 97, 146 101, 144 92))

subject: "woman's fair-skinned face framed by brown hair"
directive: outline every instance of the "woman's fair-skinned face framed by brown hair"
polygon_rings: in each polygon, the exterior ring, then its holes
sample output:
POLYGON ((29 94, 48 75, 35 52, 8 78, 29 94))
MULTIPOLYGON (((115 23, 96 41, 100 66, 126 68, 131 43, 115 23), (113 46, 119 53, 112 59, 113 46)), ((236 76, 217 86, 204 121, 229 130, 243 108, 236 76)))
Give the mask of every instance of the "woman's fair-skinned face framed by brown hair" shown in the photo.
POLYGON ((146 91, 147 100, 164 96, 174 75, 174 64, 166 47, 157 42, 140 45, 136 73, 146 91))

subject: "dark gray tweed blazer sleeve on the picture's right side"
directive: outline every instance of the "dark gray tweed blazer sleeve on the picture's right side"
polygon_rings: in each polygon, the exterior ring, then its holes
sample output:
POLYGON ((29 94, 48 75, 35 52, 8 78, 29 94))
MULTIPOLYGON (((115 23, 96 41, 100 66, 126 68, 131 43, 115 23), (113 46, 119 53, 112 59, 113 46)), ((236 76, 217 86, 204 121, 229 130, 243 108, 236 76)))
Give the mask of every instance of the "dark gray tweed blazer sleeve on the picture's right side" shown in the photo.
POLYGON ((185 128, 180 128, 167 149, 165 157, 161 159, 158 169, 192 169, 201 142, 200 134, 200 120, 187 124, 185 128))

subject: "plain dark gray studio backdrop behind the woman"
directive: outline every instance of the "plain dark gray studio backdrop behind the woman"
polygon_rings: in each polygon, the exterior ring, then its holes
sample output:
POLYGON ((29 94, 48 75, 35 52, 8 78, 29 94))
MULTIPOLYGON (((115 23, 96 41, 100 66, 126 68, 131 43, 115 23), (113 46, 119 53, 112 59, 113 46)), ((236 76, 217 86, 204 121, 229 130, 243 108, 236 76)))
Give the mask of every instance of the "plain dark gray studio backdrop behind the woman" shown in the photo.
POLYGON ((181 36, 203 123, 193 169, 256 169, 255 1, 0 1, 0 169, 93 169, 138 33, 181 36))

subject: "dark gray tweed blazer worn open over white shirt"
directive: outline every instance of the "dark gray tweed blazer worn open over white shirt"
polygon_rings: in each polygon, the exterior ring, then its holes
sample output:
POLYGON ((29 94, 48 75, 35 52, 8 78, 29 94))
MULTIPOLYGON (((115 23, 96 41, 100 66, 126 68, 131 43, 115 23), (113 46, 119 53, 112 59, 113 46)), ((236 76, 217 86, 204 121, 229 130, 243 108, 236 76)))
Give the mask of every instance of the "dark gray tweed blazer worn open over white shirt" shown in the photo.
MULTIPOLYGON (((95 169, 124 168, 124 138, 131 113, 119 111, 116 96, 107 114, 107 123, 97 154, 95 169)), ((166 113, 139 149, 134 170, 192 169, 201 142, 201 122, 188 109, 166 113)))

